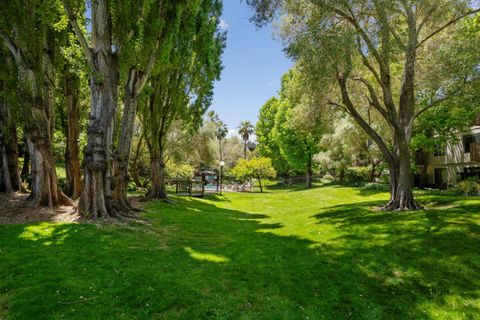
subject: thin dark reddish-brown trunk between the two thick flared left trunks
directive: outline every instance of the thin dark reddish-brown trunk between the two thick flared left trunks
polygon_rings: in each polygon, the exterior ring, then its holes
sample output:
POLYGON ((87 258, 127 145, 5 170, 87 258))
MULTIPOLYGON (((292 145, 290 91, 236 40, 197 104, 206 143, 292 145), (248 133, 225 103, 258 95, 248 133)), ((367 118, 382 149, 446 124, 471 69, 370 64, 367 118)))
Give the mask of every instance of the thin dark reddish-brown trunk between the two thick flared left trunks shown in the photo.
POLYGON ((78 199, 82 192, 80 151, 78 147, 80 135, 80 100, 78 86, 78 79, 66 76, 64 95, 67 102, 67 150, 65 152, 67 182, 64 192, 72 199, 78 199))

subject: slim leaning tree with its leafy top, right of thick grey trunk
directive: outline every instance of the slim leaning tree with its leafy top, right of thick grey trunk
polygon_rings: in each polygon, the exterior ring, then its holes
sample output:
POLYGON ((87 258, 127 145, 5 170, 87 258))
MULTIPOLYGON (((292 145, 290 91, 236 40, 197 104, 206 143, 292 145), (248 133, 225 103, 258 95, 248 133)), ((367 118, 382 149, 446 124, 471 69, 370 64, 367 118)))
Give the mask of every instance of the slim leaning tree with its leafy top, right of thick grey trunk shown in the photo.
POLYGON ((113 167, 114 197, 117 204, 129 209, 127 201, 128 163, 133 128, 140 96, 162 56, 171 50, 172 29, 177 10, 185 1, 142 0, 116 1, 117 19, 114 33, 121 44, 119 64, 124 82, 123 115, 113 167))

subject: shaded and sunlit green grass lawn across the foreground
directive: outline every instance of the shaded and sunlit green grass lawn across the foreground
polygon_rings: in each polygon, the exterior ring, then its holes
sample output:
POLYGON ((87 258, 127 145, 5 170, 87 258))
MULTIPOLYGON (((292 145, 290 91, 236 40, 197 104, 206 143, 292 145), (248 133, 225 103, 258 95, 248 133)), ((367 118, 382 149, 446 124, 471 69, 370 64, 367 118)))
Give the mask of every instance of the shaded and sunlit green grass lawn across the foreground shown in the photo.
POLYGON ((0 319, 478 319, 480 200, 359 188, 172 197, 150 225, 0 226, 0 319))

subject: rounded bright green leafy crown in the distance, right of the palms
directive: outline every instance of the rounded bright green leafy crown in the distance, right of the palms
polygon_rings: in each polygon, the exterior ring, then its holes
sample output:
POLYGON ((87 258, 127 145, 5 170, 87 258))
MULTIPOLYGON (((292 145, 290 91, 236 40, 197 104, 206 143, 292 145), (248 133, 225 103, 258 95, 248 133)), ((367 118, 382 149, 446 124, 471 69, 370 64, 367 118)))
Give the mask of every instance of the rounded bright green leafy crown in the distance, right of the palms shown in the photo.
POLYGON ((311 169, 325 129, 325 110, 317 108, 321 96, 307 93, 297 75, 292 69, 283 76, 279 98, 262 107, 257 125, 260 154, 282 173, 311 169))

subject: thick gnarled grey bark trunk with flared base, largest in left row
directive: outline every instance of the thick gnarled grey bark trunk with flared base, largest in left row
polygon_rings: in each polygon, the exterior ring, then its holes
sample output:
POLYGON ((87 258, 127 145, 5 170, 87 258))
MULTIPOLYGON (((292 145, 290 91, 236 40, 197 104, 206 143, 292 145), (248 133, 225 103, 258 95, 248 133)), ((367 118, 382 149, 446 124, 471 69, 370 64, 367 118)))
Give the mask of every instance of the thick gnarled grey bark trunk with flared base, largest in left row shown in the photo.
MULTIPOLYGON (((92 45, 86 48, 81 31, 76 30, 91 68, 91 110, 84 153, 84 184, 78 204, 87 218, 122 216, 112 195, 113 121, 117 111, 118 68, 112 52, 109 1, 92 1, 92 45)), ((70 19, 72 16, 69 14, 70 19)), ((71 20, 72 21, 72 20, 71 20)), ((73 20, 73 24, 76 21, 73 20)))

